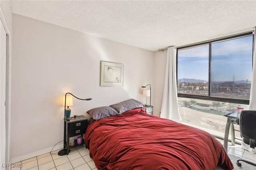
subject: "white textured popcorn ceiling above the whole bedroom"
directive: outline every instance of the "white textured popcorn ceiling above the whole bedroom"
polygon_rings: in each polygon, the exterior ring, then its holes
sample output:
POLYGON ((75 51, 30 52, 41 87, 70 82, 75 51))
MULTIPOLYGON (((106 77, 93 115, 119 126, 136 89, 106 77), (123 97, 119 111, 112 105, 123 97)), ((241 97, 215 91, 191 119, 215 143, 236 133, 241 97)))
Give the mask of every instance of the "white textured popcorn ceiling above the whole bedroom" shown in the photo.
POLYGON ((151 51, 256 26, 256 0, 22 0, 12 12, 151 51))

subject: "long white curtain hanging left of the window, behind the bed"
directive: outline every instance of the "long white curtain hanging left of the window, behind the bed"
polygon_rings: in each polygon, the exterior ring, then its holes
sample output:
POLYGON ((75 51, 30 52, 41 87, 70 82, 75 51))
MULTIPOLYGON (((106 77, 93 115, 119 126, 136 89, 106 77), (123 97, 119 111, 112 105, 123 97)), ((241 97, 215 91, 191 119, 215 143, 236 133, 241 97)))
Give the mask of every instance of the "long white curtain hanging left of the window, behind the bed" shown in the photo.
POLYGON ((160 117, 181 123, 177 97, 176 53, 176 47, 168 47, 160 117))

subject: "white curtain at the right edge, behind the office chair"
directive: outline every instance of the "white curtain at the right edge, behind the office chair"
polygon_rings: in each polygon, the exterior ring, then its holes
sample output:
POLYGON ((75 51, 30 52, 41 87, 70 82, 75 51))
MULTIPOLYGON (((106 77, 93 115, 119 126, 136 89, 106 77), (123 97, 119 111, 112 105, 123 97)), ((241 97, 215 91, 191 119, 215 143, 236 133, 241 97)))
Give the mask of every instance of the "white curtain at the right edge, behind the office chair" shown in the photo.
MULTIPOLYGON (((253 44, 253 64, 252 64, 252 84, 250 93, 250 104, 248 110, 256 111, 256 27, 254 28, 254 44, 253 44)), ((242 140, 242 148, 256 153, 256 148, 250 148, 250 145, 245 144, 242 140)))

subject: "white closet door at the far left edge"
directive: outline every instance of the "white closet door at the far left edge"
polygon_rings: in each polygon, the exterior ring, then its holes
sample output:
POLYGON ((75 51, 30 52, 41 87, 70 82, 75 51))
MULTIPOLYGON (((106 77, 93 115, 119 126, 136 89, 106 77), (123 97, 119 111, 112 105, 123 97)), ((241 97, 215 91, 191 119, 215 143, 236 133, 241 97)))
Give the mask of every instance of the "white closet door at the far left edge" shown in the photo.
MULTIPOLYGON (((6 31, 0 22, 0 162, 7 163, 6 154, 6 123, 5 123, 5 99, 6 99, 6 31)), ((1 170, 5 169, 1 166, 1 170)))

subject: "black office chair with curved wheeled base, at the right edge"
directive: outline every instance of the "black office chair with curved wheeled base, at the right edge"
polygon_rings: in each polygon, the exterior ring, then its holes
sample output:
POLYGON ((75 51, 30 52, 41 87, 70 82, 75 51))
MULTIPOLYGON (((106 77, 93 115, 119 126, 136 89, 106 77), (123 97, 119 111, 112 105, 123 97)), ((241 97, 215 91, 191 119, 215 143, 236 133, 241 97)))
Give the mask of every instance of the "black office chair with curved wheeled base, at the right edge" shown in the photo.
MULTIPOLYGON (((240 135, 245 144, 249 144, 250 148, 256 147, 256 111, 242 111, 240 114, 240 119, 238 118, 236 122, 239 121, 240 135)), ((237 166, 242 166, 239 161, 246 162, 253 166, 256 166, 253 162, 244 159, 236 160, 237 166)))

